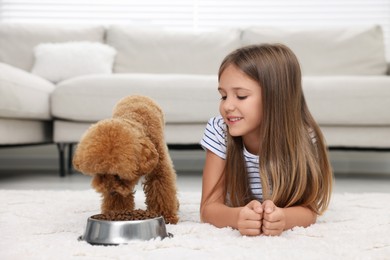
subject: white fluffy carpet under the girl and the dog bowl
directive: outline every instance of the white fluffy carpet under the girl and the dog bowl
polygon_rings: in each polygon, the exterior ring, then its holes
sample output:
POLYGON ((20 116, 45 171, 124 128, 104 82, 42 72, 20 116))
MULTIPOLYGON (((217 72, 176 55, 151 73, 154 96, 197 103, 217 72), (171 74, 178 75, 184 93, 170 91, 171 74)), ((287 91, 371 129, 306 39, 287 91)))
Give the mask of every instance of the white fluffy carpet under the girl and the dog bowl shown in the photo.
POLYGON ((173 238, 92 246, 77 238, 99 213, 94 190, 0 190, 0 259, 390 259, 390 194, 335 194, 315 225, 279 237, 200 223, 200 194, 179 199, 181 220, 167 225, 173 238))

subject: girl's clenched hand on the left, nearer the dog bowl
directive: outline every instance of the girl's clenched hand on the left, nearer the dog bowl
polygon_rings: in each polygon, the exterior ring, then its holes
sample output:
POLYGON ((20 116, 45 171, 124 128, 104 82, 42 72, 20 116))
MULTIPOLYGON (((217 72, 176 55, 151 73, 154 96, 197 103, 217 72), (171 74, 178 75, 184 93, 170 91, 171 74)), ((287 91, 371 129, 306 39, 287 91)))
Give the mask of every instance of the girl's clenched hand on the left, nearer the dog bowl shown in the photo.
POLYGON ((238 231, 245 236, 260 235, 262 218, 263 207, 261 203, 257 200, 252 200, 238 214, 238 231))

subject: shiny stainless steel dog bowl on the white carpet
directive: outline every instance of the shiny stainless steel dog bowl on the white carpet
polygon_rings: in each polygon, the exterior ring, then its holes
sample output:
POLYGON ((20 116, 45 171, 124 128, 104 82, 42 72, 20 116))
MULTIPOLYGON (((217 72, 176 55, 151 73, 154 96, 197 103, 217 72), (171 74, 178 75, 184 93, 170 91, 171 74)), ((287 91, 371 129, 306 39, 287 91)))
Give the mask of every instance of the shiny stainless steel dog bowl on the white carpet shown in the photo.
POLYGON ((92 245, 119 245, 157 237, 172 237, 166 231, 163 217, 131 221, 97 220, 89 217, 85 233, 79 240, 92 245))

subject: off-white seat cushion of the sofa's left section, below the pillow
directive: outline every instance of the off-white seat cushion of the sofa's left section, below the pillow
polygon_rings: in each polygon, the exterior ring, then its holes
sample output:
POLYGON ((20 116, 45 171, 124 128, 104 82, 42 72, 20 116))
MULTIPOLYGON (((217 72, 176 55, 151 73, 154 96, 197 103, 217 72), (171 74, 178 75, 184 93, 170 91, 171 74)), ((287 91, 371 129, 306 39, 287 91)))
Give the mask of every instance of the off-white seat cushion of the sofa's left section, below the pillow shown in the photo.
POLYGON ((0 117, 51 119, 50 94, 54 88, 45 79, 0 63, 0 117))

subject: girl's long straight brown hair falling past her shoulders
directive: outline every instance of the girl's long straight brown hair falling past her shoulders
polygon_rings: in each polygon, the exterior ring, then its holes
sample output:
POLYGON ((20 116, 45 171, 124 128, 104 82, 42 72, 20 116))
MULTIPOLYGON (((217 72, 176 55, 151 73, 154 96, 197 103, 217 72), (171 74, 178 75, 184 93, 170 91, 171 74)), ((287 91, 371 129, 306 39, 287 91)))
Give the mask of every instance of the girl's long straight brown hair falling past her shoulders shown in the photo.
MULTIPOLYGON (((263 119, 259 170, 263 199, 278 207, 305 206, 323 213, 329 205, 333 173, 324 137, 306 105, 297 57, 285 45, 240 48, 222 62, 234 65, 262 88, 263 119)), ((253 196, 243 157, 241 137, 227 133, 225 174, 221 184, 232 206, 244 206, 253 196)))

